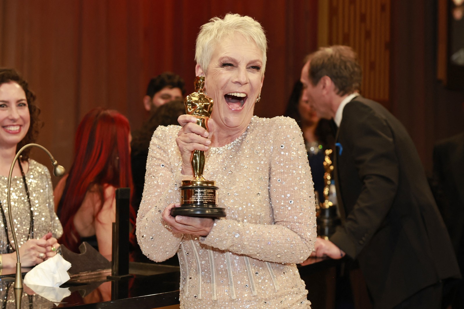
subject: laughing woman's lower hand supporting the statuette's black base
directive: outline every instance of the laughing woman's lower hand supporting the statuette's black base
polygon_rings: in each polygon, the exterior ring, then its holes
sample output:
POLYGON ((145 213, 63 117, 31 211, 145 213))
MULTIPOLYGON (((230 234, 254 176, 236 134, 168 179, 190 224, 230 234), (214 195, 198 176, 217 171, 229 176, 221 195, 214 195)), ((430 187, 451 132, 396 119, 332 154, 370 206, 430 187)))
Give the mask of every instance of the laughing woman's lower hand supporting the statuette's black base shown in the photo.
POLYGON ((171 215, 171 209, 180 207, 180 204, 171 204, 161 214, 163 221, 172 229, 173 233, 192 234, 206 236, 213 228, 214 220, 211 218, 199 218, 171 215))

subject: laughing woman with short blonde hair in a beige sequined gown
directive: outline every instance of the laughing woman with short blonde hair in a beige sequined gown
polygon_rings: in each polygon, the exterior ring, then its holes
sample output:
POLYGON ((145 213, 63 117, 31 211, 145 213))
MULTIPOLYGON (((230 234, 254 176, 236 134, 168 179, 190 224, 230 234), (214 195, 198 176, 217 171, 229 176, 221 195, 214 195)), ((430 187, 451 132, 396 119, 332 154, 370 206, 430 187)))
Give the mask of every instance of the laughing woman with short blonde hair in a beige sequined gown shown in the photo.
POLYGON ((154 261, 178 253, 183 308, 309 308, 295 265, 316 240, 302 133, 290 118, 253 115, 265 104, 263 28, 248 16, 213 18, 201 27, 195 59, 214 100, 210 132, 192 115, 155 131, 137 217, 142 252, 154 261), (226 218, 170 215, 180 207, 179 184, 192 178, 194 150, 205 151, 203 175, 219 187, 226 218))

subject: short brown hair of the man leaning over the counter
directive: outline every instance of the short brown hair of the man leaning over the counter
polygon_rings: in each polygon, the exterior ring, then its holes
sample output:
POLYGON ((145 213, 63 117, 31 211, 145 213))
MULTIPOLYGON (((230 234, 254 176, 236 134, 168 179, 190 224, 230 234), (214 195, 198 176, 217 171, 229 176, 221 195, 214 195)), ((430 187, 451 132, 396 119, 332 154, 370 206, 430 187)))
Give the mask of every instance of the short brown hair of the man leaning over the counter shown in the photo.
POLYGON ((309 79, 313 85, 317 85, 323 76, 329 76, 337 87, 338 95, 360 91, 361 65, 356 52, 351 47, 344 45, 321 47, 310 54, 307 60, 311 61, 309 79))

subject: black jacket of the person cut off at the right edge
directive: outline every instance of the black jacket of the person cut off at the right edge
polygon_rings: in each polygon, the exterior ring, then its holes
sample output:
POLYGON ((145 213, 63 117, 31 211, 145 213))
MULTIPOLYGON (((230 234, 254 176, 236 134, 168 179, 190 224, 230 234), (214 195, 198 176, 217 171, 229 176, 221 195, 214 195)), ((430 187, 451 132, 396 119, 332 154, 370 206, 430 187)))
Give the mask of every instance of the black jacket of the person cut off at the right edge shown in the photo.
POLYGON ((438 209, 464 273, 464 132, 433 148, 432 184, 438 209))

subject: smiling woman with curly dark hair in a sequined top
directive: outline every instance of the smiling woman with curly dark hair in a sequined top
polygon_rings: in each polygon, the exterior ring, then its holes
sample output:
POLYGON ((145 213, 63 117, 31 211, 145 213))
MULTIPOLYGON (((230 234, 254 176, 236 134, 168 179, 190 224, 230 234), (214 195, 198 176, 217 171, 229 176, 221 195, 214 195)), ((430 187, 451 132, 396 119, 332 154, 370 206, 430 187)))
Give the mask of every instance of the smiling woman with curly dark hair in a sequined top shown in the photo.
POLYGON ((56 255, 57 238, 63 228, 53 209, 50 172, 29 158, 29 149, 13 167, 11 205, 7 204, 7 175, 17 151, 34 142, 41 122, 35 95, 14 69, 0 69, 0 268, 16 265, 16 250, 22 265, 30 267, 56 255), (31 202, 31 196, 33 201, 31 202), (13 227, 6 220, 11 210, 13 227), (18 238, 13 243, 12 230, 18 238))

